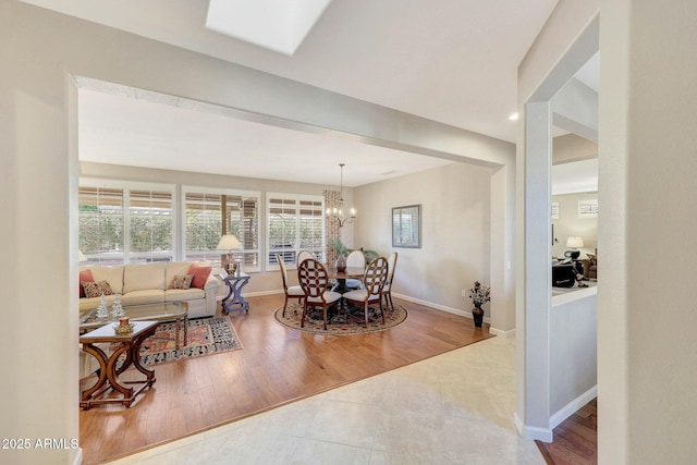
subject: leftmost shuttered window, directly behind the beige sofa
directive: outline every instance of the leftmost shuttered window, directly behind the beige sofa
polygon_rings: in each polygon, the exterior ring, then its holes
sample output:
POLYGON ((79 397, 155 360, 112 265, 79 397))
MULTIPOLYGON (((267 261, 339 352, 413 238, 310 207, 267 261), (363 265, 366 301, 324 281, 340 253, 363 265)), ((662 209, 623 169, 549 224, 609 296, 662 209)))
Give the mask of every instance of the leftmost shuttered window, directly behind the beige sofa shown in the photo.
POLYGON ((78 244, 93 264, 174 258, 171 185, 81 180, 78 244))

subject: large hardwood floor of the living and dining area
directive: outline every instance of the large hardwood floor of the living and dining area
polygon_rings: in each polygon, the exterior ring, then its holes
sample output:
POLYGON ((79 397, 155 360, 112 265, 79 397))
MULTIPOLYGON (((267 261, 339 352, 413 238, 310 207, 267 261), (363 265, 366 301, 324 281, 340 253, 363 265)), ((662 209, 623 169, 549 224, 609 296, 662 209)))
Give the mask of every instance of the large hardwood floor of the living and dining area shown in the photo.
POLYGON ((308 334, 276 322, 282 295, 248 301, 248 315, 230 315, 244 350, 157 365, 157 382, 131 408, 81 411, 83 463, 114 460, 491 336, 486 325, 475 329, 468 318, 396 298, 409 315, 394 329, 308 334))

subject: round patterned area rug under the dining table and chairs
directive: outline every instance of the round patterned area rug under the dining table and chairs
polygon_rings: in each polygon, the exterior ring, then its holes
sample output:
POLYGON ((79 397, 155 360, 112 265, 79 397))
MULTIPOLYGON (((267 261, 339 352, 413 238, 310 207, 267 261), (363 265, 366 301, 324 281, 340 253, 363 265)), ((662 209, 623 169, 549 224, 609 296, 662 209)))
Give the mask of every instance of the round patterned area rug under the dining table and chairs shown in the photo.
POLYGON ((338 311, 337 306, 329 307, 327 310, 327 330, 325 330, 325 321, 322 309, 310 308, 305 317, 305 327, 301 328, 303 317, 303 305, 297 302, 289 302, 283 317, 283 307, 279 307, 273 314, 276 320, 284 327, 296 329, 298 331, 310 332, 313 334, 360 334, 367 332, 384 331, 403 323, 408 316, 406 308, 395 304, 394 310, 384 308, 384 325, 380 316, 380 307, 377 305, 368 308, 368 328, 364 322, 363 306, 346 304, 347 310, 338 311))

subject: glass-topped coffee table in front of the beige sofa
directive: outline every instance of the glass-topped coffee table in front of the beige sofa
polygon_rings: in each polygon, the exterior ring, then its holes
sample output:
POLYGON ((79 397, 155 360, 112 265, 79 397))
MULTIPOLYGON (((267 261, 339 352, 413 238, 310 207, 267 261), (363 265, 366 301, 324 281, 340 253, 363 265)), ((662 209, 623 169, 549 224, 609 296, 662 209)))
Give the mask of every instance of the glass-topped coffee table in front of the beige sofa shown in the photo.
MULTIPOLYGON (((184 333, 184 345, 186 345, 186 330, 188 327, 188 303, 187 302, 166 302, 162 304, 131 305, 123 307, 123 310, 131 321, 174 321, 176 328, 176 348, 180 347, 180 331, 184 333)), ((80 333, 100 328, 107 323, 119 325, 119 318, 98 319, 97 310, 89 310, 80 317, 80 333)))

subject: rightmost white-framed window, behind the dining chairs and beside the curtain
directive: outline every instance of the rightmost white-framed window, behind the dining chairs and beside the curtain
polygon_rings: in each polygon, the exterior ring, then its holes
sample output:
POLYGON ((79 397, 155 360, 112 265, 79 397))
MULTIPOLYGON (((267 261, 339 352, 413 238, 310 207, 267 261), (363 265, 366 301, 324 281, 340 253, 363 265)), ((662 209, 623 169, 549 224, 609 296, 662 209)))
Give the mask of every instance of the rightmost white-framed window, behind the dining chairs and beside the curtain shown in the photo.
POLYGON ((268 265, 295 264, 299 250, 309 250, 318 259, 325 256, 325 205, 321 196, 267 194, 268 265))

